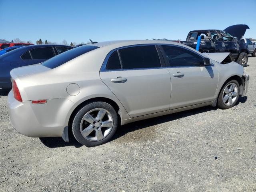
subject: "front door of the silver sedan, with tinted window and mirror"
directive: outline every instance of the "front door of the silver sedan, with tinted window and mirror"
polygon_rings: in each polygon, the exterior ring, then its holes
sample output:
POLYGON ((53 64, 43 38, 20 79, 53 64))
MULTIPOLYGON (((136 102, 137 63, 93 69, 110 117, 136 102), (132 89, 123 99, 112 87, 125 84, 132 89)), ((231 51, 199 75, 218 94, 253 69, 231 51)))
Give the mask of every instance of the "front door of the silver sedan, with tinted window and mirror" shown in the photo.
POLYGON ((218 85, 218 70, 204 66, 202 56, 181 46, 162 46, 171 76, 170 109, 214 100, 218 85))

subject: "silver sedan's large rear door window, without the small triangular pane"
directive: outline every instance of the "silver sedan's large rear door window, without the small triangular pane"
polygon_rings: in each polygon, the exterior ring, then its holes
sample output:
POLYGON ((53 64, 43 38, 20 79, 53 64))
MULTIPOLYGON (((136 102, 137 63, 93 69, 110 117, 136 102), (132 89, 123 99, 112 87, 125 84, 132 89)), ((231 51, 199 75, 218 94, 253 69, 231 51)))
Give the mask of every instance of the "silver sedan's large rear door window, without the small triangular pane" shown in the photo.
POLYGON ((161 67, 156 46, 134 46, 119 50, 123 69, 161 67))

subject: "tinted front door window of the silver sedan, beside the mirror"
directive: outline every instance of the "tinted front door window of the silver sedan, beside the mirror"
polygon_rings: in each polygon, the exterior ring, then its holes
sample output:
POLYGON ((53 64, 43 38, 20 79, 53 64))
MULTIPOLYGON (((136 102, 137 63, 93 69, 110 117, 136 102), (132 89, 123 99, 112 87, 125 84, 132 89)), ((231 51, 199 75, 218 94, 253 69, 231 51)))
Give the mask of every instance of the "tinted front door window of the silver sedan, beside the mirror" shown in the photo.
POLYGON ((177 46, 165 46, 162 48, 171 67, 204 66, 204 60, 198 54, 177 46))

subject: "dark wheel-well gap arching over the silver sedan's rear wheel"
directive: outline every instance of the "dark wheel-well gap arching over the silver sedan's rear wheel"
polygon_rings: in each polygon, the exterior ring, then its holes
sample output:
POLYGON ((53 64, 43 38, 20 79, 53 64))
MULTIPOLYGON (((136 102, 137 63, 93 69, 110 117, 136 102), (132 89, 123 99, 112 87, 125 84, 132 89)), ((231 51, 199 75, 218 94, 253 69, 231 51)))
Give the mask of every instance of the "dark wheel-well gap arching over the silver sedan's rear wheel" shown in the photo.
MULTIPOLYGON (((72 127, 72 122, 73 122, 73 119, 74 117, 76 116, 76 113, 84 106, 86 106, 87 104, 89 103, 92 103, 92 102, 98 102, 98 101, 102 101, 102 102, 106 102, 108 104, 110 104, 114 110, 116 111, 117 113, 117 116, 118 116, 118 122, 119 124, 121 124, 121 116, 120 114, 118 113, 119 111, 119 106, 118 104, 116 104, 116 102, 114 102, 113 100, 109 99, 109 98, 104 98, 104 97, 97 97, 97 98, 91 98, 91 99, 88 99, 84 102, 82 102, 81 104, 79 104, 75 109, 74 111, 72 112, 70 118, 69 118, 69 121, 68 121, 68 129, 71 130, 71 127, 72 127)), ((69 132, 70 134, 70 132, 69 132)))

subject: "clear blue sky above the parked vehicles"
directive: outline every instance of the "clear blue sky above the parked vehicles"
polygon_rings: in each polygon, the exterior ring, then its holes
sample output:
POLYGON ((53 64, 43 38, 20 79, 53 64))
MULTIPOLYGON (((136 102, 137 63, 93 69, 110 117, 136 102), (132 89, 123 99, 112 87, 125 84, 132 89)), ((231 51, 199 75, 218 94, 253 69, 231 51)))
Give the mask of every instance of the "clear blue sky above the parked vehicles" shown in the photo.
POLYGON ((256 38, 256 0, 0 0, 0 39, 87 42, 168 38, 247 24, 256 38), (209 2, 207 4, 206 2, 209 2))

